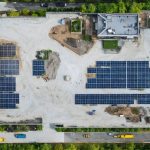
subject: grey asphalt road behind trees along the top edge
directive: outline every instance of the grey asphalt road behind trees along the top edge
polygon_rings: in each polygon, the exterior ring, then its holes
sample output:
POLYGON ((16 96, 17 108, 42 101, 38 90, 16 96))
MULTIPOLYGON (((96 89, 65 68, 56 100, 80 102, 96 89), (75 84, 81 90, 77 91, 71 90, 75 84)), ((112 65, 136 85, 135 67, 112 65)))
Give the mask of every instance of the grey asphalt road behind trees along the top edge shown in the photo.
MULTIPOLYGON (((80 7, 82 3, 67 3, 66 8, 71 8, 71 7, 80 7)), ((6 7, 8 8, 13 8, 16 10, 22 10, 23 8, 28 8, 30 10, 38 10, 38 9, 46 9, 45 7, 41 7, 40 3, 7 3, 6 7)), ((48 3, 48 7, 53 8, 56 7, 55 3, 48 3)))

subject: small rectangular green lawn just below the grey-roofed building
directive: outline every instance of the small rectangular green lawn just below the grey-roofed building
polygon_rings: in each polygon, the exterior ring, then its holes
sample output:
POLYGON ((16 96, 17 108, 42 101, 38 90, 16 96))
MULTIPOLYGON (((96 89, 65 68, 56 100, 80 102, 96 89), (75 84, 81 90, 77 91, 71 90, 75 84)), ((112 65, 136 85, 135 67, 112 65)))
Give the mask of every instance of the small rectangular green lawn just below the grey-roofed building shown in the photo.
POLYGON ((103 40, 103 48, 104 49, 117 49, 118 48, 118 40, 103 40))

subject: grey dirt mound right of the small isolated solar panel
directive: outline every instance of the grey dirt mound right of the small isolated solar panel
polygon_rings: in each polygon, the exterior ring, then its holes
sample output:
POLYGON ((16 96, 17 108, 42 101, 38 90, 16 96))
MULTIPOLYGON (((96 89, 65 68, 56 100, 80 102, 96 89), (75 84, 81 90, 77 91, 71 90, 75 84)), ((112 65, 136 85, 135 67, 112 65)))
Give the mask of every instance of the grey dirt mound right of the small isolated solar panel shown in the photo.
POLYGON ((56 79, 57 71, 60 65, 60 57, 56 52, 52 52, 46 61, 46 75, 49 80, 56 79))

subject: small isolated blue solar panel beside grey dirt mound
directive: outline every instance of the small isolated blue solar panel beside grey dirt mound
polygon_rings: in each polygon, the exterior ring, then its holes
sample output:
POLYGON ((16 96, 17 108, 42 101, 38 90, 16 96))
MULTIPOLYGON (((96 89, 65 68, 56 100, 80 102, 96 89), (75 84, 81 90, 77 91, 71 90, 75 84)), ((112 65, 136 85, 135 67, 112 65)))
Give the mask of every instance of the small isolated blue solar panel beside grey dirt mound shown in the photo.
POLYGON ((44 60, 33 60, 33 76, 45 74, 44 60))

